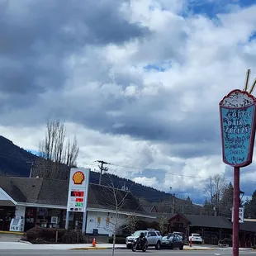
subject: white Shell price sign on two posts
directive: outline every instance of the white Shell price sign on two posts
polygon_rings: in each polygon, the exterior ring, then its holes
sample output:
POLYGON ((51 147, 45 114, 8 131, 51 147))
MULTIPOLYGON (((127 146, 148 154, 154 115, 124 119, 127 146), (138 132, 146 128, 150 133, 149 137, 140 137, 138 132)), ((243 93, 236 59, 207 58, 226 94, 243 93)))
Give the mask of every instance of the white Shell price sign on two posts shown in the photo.
POLYGON ((69 194, 66 216, 66 230, 69 229, 69 212, 83 212, 82 232, 86 230, 88 206, 89 168, 71 168, 69 176, 69 194))

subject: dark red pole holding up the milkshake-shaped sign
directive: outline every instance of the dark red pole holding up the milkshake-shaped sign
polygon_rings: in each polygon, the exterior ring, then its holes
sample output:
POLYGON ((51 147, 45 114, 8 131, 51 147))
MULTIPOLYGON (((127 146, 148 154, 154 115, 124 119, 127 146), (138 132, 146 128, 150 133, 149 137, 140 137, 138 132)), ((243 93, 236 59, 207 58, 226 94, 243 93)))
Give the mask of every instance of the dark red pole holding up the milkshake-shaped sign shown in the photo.
POLYGON ((233 193, 233 256, 239 256, 239 176, 240 168, 234 168, 234 193, 233 193))

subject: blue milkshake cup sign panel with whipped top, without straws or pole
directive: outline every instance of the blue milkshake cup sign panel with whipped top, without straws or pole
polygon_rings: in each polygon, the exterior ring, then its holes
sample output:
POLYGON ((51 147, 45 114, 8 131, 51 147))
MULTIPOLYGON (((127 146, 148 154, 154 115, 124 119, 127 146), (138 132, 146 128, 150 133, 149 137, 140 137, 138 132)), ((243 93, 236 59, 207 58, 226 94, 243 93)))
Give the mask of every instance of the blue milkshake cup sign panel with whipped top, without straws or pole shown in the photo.
POLYGON ((234 90, 220 102, 223 162, 233 167, 252 163, 255 136, 256 99, 234 90))

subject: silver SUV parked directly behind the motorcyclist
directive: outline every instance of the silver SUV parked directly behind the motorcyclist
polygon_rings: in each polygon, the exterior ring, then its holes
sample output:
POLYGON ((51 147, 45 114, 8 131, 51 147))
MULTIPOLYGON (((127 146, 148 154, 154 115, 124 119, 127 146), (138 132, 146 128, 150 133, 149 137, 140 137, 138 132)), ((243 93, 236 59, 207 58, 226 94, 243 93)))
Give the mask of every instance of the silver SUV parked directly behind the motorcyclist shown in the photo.
POLYGON ((131 245, 134 240, 140 236, 140 233, 143 232, 145 238, 148 240, 149 246, 154 246, 155 249, 160 249, 162 235, 159 230, 137 230, 134 234, 126 237, 126 248, 131 249, 131 245))

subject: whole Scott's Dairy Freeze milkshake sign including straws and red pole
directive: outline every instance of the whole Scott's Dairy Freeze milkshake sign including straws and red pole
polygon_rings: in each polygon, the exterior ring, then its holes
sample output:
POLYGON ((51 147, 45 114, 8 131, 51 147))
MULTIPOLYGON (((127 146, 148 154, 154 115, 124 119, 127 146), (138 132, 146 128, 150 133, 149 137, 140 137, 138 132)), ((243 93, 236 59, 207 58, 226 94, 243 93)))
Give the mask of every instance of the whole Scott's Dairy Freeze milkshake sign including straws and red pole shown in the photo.
POLYGON ((247 92, 249 70, 244 90, 233 90, 220 101, 222 159, 234 167, 233 256, 239 255, 239 168, 253 161, 256 128, 256 98, 247 92))

